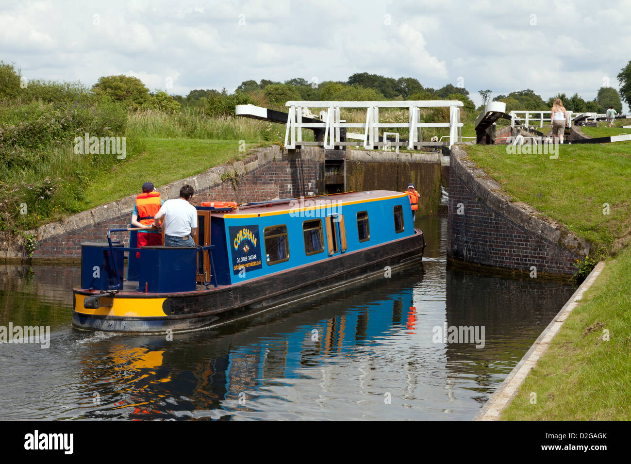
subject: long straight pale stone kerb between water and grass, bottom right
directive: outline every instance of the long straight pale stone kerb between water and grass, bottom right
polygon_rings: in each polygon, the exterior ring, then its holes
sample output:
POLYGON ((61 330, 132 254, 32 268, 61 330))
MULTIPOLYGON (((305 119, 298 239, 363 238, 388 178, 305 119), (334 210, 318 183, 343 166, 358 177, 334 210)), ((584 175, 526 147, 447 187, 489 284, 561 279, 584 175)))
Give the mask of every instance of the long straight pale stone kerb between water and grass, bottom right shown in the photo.
POLYGON ((603 269, 604 261, 600 261, 591 273, 589 273, 581 286, 576 289, 570 299, 563 305, 557 315, 550 321, 550 324, 541 332, 541 335, 534 341, 533 346, 530 347, 517 366, 510 371, 510 374, 504 379, 504 382, 502 382, 495 393, 493 393, 491 398, 488 399, 487 403, 485 403, 484 407, 473 420, 500 419, 502 412, 504 412, 505 408, 517 395, 519 388, 521 388, 526 376, 528 376, 528 372, 536 366, 537 361, 548 351, 552 339, 563 326, 565 319, 568 318, 572 310, 579 304, 583 294, 589 290, 603 269))

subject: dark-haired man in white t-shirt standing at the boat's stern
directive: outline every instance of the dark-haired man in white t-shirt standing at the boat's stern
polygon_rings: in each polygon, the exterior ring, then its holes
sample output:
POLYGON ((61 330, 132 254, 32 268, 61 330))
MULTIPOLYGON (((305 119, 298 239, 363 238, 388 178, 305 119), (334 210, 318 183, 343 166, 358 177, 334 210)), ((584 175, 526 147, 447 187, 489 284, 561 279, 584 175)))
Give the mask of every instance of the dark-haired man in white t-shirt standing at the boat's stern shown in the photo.
POLYGON ((159 227, 160 218, 164 222, 165 246, 195 246, 192 236, 197 229, 197 210, 189 203, 193 187, 185 185, 180 189, 180 198, 168 199, 153 217, 153 226, 159 227))

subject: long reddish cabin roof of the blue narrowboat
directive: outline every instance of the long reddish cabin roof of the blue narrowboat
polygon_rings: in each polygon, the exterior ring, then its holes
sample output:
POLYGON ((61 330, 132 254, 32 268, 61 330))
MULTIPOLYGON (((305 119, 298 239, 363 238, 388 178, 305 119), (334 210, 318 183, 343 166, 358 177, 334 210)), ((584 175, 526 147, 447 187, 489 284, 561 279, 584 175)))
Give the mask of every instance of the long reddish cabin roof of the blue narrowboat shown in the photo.
POLYGON ((261 203, 249 203, 246 206, 239 206, 239 209, 235 211, 213 212, 212 214, 213 216, 218 215, 226 218, 260 217, 288 214, 291 211, 326 208, 332 204, 336 206, 353 205, 355 203, 367 203, 369 201, 400 198, 403 196, 407 196, 407 193, 390 190, 336 193, 321 196, 264 201, 261 203))

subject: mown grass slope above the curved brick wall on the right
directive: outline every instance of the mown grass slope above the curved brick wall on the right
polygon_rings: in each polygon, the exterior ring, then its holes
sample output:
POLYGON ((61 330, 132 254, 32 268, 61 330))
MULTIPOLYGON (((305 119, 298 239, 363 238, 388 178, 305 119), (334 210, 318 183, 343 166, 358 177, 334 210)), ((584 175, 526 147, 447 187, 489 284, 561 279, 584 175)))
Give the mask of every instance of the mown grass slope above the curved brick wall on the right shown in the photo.
POLYGON ((509 154, 506 145, 469 145, 466 151, 514 199, 565 224, 594 248, 615 251, 631 241, 631 142, 560 145, 553 160, 509 154))

